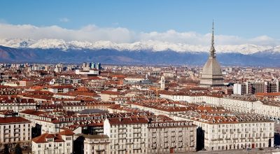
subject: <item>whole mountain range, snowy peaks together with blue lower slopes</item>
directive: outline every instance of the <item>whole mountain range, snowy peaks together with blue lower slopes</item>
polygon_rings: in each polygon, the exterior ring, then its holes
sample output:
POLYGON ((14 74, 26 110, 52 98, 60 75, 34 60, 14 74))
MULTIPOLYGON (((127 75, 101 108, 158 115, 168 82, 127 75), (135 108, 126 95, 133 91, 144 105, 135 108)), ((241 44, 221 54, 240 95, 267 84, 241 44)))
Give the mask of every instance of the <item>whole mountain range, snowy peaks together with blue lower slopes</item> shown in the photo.
MULTIPOLYGON (((209 46, 143 41, 64 41, 58 39, 0 39, 1 62, 202 65, 209 46)), ((280 66, 280 45, 216 45, 221 65, 280 66)))

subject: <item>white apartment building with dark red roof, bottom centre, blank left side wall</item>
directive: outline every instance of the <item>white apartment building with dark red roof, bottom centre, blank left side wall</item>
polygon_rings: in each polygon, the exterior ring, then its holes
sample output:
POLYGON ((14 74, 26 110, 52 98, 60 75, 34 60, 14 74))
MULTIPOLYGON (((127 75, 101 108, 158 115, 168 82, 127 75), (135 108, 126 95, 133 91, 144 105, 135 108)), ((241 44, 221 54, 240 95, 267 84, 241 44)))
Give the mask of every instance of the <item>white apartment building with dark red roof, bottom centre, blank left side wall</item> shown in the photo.
POLYGON ((148 119, 146 117, 106 119, 104 134, 110 137, 111 154, 147 153, 148 119))

